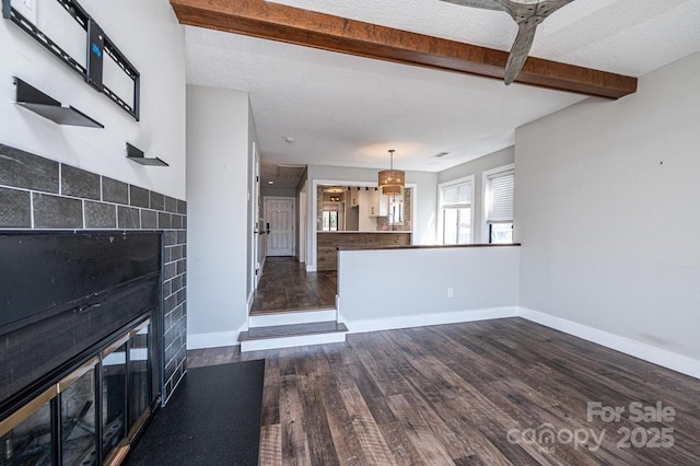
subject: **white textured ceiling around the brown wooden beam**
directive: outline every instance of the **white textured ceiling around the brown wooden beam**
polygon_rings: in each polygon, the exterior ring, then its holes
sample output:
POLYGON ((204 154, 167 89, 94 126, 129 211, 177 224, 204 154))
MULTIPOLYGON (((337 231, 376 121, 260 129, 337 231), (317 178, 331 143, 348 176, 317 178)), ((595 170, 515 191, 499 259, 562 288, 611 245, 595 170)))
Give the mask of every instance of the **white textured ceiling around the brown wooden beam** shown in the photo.
MULTIPOLYGON (((516 33, 505 13, 439 0, 278 2, 503 50, 516 33)), ((637 77, 700 50, 698 24, 700 0, 576 0, 539 26, 530 55, 637 77)), ((187 74, 250 93, 262 180, 277 186, 295 185, 277 164, 383 168, 388 149, 397 168, 445 170, 584 98, 197 27, 187 74)))

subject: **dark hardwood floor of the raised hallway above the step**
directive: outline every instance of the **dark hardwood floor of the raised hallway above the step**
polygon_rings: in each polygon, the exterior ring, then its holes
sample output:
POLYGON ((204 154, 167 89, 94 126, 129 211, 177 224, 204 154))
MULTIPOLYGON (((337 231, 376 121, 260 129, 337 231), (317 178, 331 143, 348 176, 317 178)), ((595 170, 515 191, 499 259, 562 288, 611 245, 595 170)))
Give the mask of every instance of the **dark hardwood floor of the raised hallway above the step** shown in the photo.
POLYGON ((306 272, 293 257, 268 257, 250 314, 335 308, 336 271, 306 272))

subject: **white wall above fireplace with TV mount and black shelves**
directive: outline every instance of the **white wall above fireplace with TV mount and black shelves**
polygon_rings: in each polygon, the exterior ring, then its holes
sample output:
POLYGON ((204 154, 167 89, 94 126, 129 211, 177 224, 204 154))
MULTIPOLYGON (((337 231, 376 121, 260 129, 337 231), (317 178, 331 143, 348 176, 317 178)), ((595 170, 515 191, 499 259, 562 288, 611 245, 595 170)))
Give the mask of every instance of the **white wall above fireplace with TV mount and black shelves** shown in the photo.
MULTIPOLYGON (((42 7, 49 2, 36 3, 40 28, 80 28, 67 13, 60 16, 60 11, 58 14, 43 12, 42 7)), ((183 26, 167 0, 81 0, 80 3, 139 70, 141 120, 136 121, 94 91, 14 23, 0 19, 0 142, 184 199, 183 26), (105 128, 59 126, 14 105, 13 75, 63 105, 74 106, 105 128), (145 151, 147 156, 159 156, 171 166, 144 167, 127 160, 127 141, 145 151)))

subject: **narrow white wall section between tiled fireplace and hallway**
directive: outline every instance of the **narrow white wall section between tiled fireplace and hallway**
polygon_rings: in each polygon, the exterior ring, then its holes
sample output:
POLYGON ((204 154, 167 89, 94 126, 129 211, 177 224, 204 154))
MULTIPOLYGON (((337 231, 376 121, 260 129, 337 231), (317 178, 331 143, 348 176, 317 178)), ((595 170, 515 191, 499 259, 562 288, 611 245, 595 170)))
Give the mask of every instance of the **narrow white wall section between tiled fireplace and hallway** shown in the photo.
POLYGON ((187 86, 189 348, 236 345, 247 322, 248 94, 187 86))

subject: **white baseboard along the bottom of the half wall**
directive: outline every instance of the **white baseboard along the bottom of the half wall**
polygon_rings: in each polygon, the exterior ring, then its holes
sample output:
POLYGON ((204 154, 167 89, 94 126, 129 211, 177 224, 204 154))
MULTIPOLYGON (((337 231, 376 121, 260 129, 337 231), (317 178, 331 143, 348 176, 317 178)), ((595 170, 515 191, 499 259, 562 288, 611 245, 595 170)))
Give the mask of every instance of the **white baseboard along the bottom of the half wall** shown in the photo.
POLYGON ((348 321, 350 334, 393 330, 397 328, 424 327, 428 325, 458 324, 464 322, 490 321, 493 318, 517 317, 518 307, 491 307, 486 310, 454 311, 435 314, 402 315, 386 318, 348 321))

